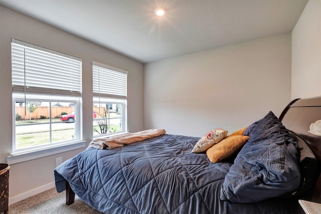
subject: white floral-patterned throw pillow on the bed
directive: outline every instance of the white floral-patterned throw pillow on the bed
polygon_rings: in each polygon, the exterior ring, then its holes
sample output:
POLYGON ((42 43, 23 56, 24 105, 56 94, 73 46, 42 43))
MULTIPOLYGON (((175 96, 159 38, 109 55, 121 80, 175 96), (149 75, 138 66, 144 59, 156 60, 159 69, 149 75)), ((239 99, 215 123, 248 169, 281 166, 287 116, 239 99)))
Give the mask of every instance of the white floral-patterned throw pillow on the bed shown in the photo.
POLYGON ((220 142, 227 136, 227 132, 224 129, 216 128, 209 131, 204 137, 202 137, 194 146, 192 152, 200 153, 206 151, 214 144, 220 142))

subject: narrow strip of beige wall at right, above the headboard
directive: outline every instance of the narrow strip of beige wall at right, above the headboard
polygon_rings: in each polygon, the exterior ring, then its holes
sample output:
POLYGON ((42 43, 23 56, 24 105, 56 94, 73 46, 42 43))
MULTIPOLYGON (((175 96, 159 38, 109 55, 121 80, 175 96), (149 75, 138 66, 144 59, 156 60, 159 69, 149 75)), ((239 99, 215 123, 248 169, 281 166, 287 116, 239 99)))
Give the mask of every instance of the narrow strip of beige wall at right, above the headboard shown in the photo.
POLYGON ((292 31, 292 99, 321 96, 321 1, 309 0, 292 31))

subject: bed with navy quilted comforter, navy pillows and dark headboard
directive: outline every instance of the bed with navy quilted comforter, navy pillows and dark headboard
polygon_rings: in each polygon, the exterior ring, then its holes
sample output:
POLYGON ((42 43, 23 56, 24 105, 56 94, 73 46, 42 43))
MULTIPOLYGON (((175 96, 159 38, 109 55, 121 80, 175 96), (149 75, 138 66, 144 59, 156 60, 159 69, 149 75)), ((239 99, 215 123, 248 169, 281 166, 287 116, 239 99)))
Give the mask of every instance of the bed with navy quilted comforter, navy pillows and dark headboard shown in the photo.
POLYGON ((321 97, 258 119, 236 134, 247 141, 215 163, 208 151, 191 152, 200 137, 88 148, 55 168, 57 191, 66 190, 67 204, 77 194, 104 213, 304 213, 298 199, 321 202, 321 136, 313 132, 321 97))

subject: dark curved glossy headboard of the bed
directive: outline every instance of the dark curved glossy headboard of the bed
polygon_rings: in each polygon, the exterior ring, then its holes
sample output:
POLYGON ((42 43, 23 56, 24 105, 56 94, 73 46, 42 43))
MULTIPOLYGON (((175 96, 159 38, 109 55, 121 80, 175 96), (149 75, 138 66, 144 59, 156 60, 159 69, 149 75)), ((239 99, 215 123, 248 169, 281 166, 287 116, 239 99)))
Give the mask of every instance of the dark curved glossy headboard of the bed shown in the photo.
MULTIPOLYGON (((288 130, 293 131, 307 142, 321 166, 321 136, 308 132, 311 123, 321 120, 321 96, 293 100, 283 110, 279 119, 288 130)), ((320 167, 318 173, 320 173, 320 167)), ((316 181, 316 188, 305 199, 321 202, 320 174, 316 181)))

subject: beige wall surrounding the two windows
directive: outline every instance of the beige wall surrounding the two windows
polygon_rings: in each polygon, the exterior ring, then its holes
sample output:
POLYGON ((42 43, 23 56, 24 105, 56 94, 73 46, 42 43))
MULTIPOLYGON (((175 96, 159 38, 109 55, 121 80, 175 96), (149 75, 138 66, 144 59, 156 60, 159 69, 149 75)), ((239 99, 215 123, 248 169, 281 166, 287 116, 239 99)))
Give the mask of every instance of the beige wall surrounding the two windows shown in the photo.
MULTIPOLYGON (((128 130, 143 130, 143 64, 0 6, 0 162, 12 151, 11 38, 82 58, 83 139, 92 139, 92 61, 128 71, 128 130)), ((53 186, 56 157, 82 149, 13 164, 9 197, 23 198, 53 186)))

